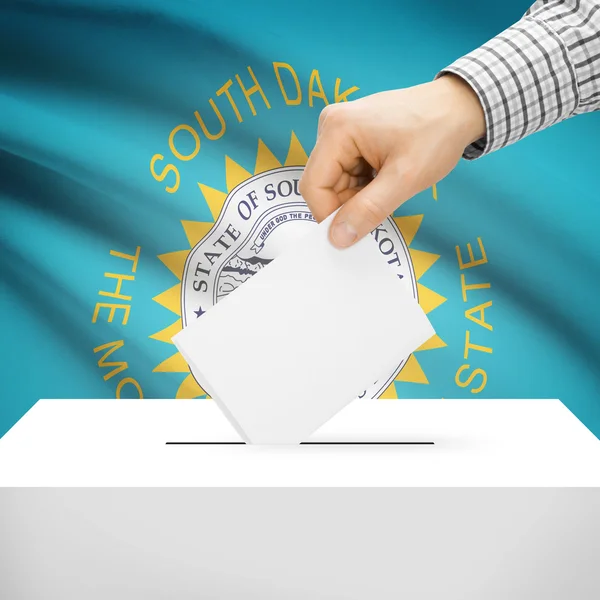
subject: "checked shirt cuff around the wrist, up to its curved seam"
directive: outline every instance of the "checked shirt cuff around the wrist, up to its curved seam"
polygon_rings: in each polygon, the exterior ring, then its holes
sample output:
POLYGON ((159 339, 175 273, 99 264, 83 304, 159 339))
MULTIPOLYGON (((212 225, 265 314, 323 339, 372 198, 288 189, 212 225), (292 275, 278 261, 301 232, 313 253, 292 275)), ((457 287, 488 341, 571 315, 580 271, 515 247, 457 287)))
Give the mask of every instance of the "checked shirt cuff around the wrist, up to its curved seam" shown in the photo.
POLYGON ((437 77, 454 73, 475 91, 486 135, 463 154, 473 160, 574 114, 577 79, 567 48, 546 23, 526 16, 437 77))

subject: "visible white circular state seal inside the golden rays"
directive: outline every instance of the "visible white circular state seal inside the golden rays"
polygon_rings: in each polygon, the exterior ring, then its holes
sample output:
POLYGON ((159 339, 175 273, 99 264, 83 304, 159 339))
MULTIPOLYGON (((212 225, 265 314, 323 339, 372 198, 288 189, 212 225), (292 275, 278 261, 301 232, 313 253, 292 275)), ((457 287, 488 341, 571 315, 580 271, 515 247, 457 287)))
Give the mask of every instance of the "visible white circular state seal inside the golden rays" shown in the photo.
MULTIPOLYGON (((181 281, 181 318, 186 327, 264 269, 298 240, 314 220, 298 186, 303 167, 280 167, 254 175, 232 189, 210 231, 191 249, 181 281)), ((372 232, 384 260, 418 300, 408 246, 392 218, 372 232)), ((408 357, 407 357, 408 358, 408 357)), ((377 398, 406 360, 361 394, 377 398)), ((201 375, 192 373, 203 387, 201 375)))

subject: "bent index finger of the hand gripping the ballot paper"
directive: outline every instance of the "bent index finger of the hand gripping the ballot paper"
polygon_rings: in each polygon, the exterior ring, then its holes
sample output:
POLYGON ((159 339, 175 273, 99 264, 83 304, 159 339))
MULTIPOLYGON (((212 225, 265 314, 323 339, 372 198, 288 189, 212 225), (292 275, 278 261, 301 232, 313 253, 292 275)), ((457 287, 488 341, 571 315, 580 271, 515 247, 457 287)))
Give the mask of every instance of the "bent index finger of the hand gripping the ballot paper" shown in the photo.
POLYGON ((319 222, 341 206, 338 186, 344 175, 358 176, 362 169, 345 108, 329 106, 322 112, 317 143, 300 180, 300 193, 319 222))

